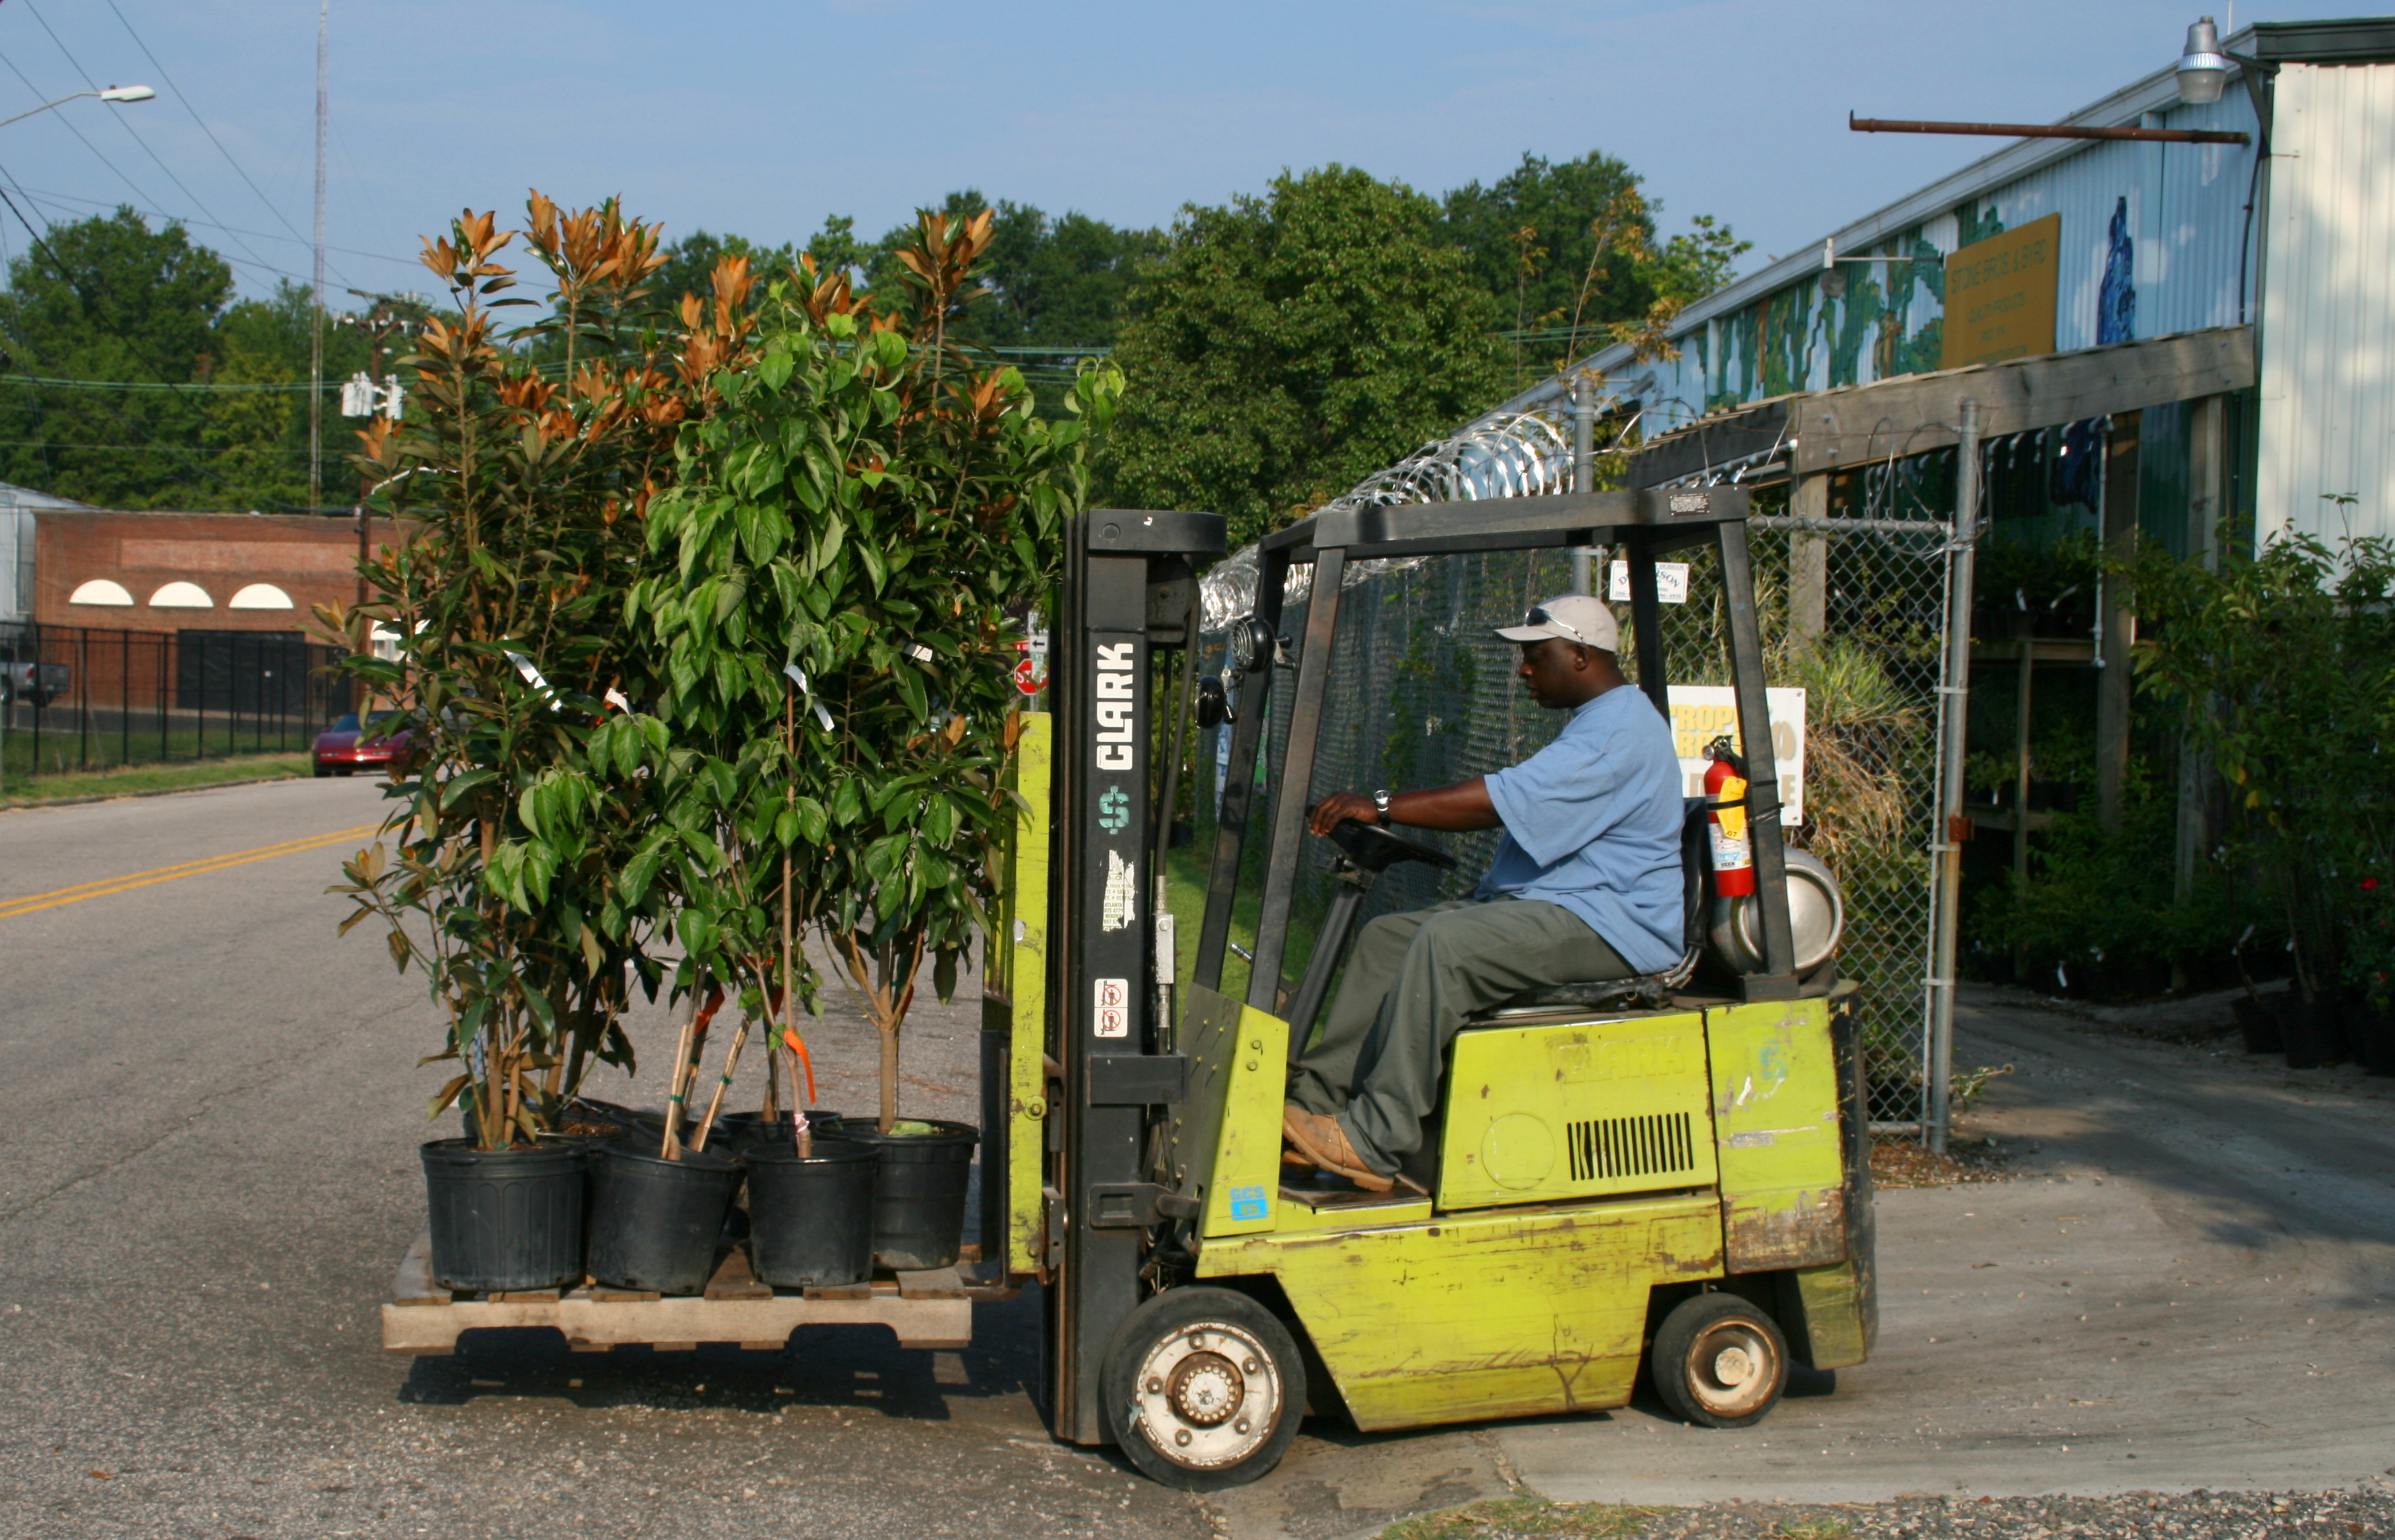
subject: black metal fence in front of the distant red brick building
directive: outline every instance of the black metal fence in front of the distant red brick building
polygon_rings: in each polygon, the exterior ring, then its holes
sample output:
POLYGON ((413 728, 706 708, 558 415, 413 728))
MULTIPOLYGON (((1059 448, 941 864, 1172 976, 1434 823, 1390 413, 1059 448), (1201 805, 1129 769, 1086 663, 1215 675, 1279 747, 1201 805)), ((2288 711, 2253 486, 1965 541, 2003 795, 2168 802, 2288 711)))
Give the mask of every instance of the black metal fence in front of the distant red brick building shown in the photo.
POLYGON ((304 750, 342 649, 280 630, 0 625, 0 778, 304 750))

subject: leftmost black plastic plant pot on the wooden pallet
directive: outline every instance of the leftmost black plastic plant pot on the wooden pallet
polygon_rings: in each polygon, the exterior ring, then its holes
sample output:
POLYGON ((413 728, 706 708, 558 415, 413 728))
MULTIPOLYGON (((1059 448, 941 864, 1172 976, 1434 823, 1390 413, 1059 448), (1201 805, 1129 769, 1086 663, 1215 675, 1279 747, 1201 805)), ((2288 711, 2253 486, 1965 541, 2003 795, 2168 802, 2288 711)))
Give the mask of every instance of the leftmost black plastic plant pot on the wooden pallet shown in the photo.
POLYGON ((472 1140, 433 1140, 417 1154, 436 1284, 498 1293, 582 1281, 584 1147, 474 1150, 472 1140))

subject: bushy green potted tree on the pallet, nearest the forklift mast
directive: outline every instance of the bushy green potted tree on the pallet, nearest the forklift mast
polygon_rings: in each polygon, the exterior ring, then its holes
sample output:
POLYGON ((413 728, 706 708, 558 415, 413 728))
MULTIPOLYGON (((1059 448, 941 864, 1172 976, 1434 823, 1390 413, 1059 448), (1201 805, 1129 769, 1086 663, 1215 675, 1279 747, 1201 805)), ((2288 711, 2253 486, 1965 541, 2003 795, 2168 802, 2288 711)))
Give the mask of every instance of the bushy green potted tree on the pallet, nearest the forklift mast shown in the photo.
MULTIPOLYGON (((649 520, 656 570, 632 596, 663 649, 663 709, 702 745, 678 766, 707 814, 675 819, 704 826, 685 845, 709 877, 685 893, 690 915, 726 956, 771 956, 778 939, 798 980, 786 1001, 812 1001, 812 968, 774 929, 788 893, 795 929, 821 934, 879 1030, 879 1116, 843 1138, 877 1150, 886 1267, 958 1257, 977 1133, 898 1116, 901 1037, 924 968, 946 999, 987 927, 1011 817, 1006 616, 1054 587, 1087 436, 1118 393, 1111 371, 1083 371, 1075 417, 1049 424, 1015 369, 948 340, 989 230, 987 211, 924 213, 898 251, 896 309, 805 261, 757 362, 721 376, 723 410, 685 433, 649 520), (783 855, 798 874, 776 886, 783 855)), ((764 977, 747 987, 762 999, 764 977)))

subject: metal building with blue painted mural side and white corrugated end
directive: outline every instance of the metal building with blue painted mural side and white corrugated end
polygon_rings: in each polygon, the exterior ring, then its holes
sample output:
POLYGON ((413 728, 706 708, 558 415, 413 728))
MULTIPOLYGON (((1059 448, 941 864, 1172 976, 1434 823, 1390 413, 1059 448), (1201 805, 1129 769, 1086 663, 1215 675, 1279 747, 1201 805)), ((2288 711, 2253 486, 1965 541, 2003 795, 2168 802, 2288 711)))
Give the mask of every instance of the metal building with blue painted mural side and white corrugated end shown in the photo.
MULTIPOLYGON (((2017 139, 1688 307, 1674 357, 1609 347, 1485 422, 1552 414, 1593 376, 1655 438, 1794 393, 2237 328, 2258 376, 2215 419, 2144 402, 2148 534, 2208 539, 2206 455, 2256 539, 2395 534, 2395 17, 2258 24, 2220 50, 2218 101, 2187 101, 2170 60, 2057 127, 2244 144, 2017 139)), ((1928 448, 1921 426, 1882 424, 1873 450, 1928 448)), ((1698 460, 1736 474, 1789 448, 1734 443, 1698 460)))

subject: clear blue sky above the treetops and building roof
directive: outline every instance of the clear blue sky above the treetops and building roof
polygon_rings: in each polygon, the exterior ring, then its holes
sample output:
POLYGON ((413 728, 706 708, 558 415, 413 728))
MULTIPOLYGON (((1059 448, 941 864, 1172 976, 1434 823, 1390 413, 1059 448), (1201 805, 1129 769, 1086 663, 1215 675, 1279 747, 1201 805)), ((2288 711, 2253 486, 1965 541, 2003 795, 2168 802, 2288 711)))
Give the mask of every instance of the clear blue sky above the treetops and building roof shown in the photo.
MULTIPOLYGON (((2237 24, 2318 0, 2218 7, 2237 24)), ((620 194, 666 237, 860 235, 977 187, 1169 225, 1339 160, 1444 192, 1602 148, 1756 249, 1818 242, 2002 141, 1861 117, 2050 122, 2177 57, 2158 0, 331 0, 328 302, 429 290, 419 237, 620 194)), ((316 0, 0 0, 0 187, 34 225, 177 216, 244 292, 309 273, 316 0)), ((26 247, 0 208, 0 254, 26 247)))

